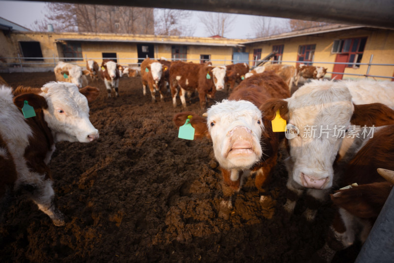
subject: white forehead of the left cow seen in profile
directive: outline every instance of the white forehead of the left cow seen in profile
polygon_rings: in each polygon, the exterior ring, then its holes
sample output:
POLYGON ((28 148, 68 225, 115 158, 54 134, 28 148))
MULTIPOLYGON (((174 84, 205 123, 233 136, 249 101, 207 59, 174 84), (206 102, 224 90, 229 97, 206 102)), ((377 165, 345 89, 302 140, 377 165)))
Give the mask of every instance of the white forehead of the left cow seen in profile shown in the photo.
POLYGON ((72 114, 79 115, 79 111, 89 113, 88 100, 79 92, 75 84, 69 82, 48 82, 45 97, 48 107, 61 106, 72 114))

